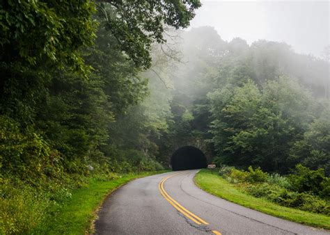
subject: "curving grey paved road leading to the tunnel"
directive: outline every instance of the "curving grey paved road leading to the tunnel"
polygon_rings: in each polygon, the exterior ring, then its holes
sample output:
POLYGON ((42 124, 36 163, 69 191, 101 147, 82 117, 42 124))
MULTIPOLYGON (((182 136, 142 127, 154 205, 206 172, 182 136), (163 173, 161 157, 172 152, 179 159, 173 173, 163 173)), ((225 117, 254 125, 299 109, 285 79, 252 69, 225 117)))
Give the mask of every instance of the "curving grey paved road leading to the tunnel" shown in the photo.
POLYGON ((196 172, 153 175, 119 188, 104 202, 96 234, 330 234, 214 197, 195 186, 196 172))

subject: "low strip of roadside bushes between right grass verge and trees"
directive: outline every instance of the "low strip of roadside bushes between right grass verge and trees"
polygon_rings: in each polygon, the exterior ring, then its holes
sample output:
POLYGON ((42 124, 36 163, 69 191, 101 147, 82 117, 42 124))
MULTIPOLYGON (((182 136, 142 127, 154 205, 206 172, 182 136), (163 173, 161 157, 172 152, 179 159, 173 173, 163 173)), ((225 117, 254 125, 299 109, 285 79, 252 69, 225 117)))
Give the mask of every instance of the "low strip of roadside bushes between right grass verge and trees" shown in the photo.
POLYGON ((260 168, 253 170, 251 166, 244 171, 223 165, 219 175, 230 183, 240 183, 239 187, 253 197, 262 197, 281 206, 304 211, 325 215, 330 213, 330 181, 322 169, 310 170, 297 165, 293 175, 283 177, 277 173, 269 175, 260 168))

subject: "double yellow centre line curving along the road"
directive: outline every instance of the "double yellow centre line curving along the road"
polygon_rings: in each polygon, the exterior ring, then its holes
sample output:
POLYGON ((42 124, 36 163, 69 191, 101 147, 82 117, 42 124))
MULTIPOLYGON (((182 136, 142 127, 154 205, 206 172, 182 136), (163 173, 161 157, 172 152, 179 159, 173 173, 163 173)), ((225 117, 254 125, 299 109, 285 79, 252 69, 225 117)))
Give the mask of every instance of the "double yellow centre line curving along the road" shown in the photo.
MULTIPOLYGON (((174 177, 175 175, 180 175, 182 174, 182 172, 173 174, 173 175, 169 175, 168 177, 165 177, 164 179, 162 179, 162 181, 159 182, 158 184, 158 188, 160 193, 163 195, 163 197, 178 211, 180 211, 180 213, 182 213, 184 216, 186 216, 187 218, 189 218, 190 220, 194 221, 197 225, 209 225, 208 222, 206 222, 205 220, 202 220, 201 218, 199 218, 198 216, 196 216, 194 213, 192 213, 191 211, 188 211, 187 209, 185 209, 179 202, 175 201, 170 195, 168 195, 168 193, 166 193, 165 189, 164 189, 164 182, 167 179, 170 179, 171 177, 174 177)), ((218 232, 217 230, 212 230, 212 232, 214 234, 218 234, 221 235, 220 232, 218 232)))

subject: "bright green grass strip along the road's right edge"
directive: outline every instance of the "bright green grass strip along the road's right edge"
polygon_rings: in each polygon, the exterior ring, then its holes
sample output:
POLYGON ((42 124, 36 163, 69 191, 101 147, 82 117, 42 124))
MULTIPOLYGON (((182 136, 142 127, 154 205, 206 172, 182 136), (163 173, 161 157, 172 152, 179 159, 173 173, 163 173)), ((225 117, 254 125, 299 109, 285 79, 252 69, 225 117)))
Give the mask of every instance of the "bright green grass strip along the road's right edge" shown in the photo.
POLYGON ((217 173, 213 173, 212 175, 210 170, 203 169, 198 172, 195 177, 195 182, 196 185, 204 191, 230 202, 285 220, 291 220, 304 225, 311 225, 313 227, 330 229, 330 216, 279 206, 273 202, 263 200, 262 198, 247 195, 237 186, 222 179, 217 173))

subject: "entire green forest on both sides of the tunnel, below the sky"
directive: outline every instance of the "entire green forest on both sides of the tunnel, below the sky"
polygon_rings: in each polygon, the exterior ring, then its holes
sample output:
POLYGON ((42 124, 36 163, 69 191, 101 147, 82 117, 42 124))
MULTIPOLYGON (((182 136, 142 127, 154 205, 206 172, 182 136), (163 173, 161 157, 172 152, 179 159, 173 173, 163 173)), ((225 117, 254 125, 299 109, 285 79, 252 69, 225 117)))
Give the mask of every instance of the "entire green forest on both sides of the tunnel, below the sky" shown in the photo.
POLYGON ((183 30, 200 6, 1 3, 1 197, 168 168, 182 145, 217 165, 329 175, 329 49, 183 30))

